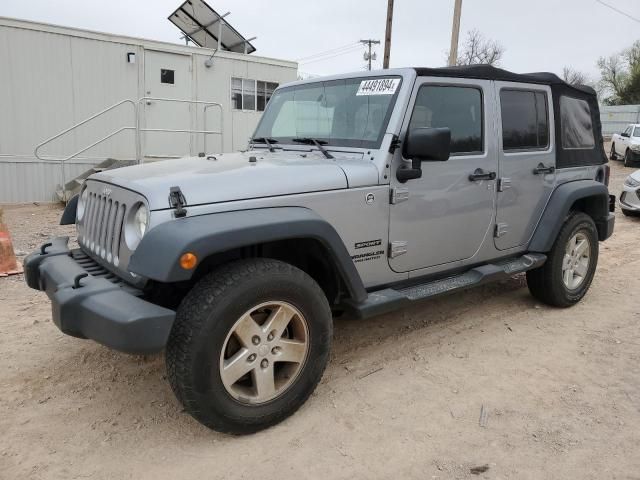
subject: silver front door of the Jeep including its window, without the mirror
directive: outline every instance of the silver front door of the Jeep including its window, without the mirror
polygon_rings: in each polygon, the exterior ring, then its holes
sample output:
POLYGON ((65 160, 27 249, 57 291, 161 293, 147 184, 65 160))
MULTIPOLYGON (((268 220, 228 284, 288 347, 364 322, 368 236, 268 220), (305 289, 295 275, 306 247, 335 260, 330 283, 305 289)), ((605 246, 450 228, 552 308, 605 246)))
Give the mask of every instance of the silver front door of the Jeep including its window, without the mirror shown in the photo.
MULTIPOLYGON (((469 79, 419 79, 410 115, 401 132, 417 127, 448 127, 451 158, 422 162, 422 178, 391 180, 394 197, 390 219, 389 264, 409 272, 451 262, 472 261, 490 239, 495 209, 497 172, 495 99, 492 83, 469 79), (474 175, 476 175, 474 177, 474 175)), ((396 151, 398 164, 409 164, 396 151)))

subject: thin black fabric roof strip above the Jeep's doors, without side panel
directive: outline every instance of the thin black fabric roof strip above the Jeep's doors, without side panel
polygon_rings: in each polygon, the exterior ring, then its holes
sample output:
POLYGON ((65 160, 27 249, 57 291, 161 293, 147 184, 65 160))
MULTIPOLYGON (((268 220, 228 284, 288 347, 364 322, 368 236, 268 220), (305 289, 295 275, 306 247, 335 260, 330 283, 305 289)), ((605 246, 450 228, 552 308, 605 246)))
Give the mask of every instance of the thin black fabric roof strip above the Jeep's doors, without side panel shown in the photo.
POLYGON ((478 78, 481 80, 500 80, 503 82, 537 83, 541 85, 564 86, 575 89, 583 94, 596 95, 593 88, 586 85, 570 85, 555 73, 534 72, 514 73, 491 65, 464 65, 441 68, 416 68, 416 73, 421 77, 457 77, 478 78))

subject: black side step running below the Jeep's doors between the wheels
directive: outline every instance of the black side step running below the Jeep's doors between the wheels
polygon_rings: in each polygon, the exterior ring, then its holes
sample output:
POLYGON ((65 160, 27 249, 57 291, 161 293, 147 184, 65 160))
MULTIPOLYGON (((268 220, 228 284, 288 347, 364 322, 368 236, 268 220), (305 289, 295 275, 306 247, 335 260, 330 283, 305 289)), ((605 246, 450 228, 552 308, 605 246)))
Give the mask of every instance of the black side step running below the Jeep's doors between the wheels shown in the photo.
POLYGON ((346 302, 346 307, 357 317, 373 317, 403 308, 416 301, 508 278, 517 273, 537 268, 546 260, 547 256, 541 253, 527 253, 521 257, 481 265, 452 277, 431 280, 404 288, 385 288, 370 292, 364 302, 346 302))

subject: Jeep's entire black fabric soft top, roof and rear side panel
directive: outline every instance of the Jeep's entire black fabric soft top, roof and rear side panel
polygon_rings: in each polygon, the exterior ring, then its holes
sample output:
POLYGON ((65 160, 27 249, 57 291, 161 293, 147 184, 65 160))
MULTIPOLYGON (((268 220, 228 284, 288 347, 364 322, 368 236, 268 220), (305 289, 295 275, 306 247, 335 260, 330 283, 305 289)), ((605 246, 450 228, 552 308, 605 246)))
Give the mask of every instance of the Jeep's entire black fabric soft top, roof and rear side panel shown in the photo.
MULTIPOLYGON (((577 167, 583 165, 599 165, 607 162, 600 124, 600 108, 596 91, 586 85, 571 85, 554 73, 513 73, 491 65, 468 65, 442 68, 416 68, 421 77, 456 77, 476 78, 480 80, 499 80, 503 82, 534 83, 549 85, 553 95, 552 107, 555 118, 556 133, 556 166, 558 168, 577 167), (560 105, 562 97, 584 100, 589 106, 589 112, 578 118, 576 112, 563 109, 560 105), (588 118, 591 117, 591 125, 588 118), (585 122, 586 120, 586 122, 585 122), (582 129, 591 128, 595 145, 593 148, 565 148, 563 135, 571 134, 577 123, 583 123, 582 129)), ((586 113, 586 112, 585 112, 586 113)))

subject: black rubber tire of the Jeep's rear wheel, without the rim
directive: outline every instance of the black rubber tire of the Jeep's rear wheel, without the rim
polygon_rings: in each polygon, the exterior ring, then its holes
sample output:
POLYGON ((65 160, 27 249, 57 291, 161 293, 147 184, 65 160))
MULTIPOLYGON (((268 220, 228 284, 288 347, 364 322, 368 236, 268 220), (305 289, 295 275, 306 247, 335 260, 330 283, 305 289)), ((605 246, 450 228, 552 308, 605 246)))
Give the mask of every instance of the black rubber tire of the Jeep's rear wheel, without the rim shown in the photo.
POLYGON ((598 247, 598 231, 593 219, 581 212, 570 214, 548 252, 545 264, 527 272, 527 285, 531 294, 554 307, 566 308, 578 303, 593 280, 598 263, 598 247), (589 240, 590 260, 584 280, 576 289, 570 290, 562 280, 562 262, 567 242, 578 232, 584 233, 589 240))

